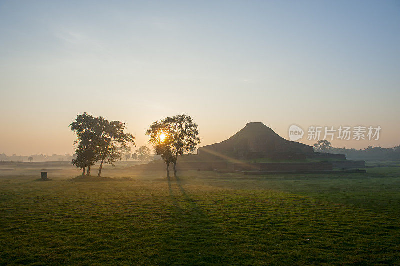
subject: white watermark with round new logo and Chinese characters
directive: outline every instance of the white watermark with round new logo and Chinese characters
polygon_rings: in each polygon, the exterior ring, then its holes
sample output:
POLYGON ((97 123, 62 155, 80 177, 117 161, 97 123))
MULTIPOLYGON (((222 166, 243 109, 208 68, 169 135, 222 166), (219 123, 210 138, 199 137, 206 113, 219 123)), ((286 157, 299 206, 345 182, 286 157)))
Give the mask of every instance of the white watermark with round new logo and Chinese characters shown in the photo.
MULTIPOLYGON (((340 140, 379 140, 380 126, 310 126, 308 140, 340 139, 340 140)), ((304 136, 304 130, 298 125, 289 127, 289 139, 297 141, 304 136)))

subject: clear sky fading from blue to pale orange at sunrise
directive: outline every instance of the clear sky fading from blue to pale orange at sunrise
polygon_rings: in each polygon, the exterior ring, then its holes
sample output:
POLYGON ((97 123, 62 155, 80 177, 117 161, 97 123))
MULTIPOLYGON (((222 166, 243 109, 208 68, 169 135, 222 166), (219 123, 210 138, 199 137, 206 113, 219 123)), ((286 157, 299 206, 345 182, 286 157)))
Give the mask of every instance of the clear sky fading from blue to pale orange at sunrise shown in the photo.
POLYGON ((187 114, 199 146, 263 122, 286 139, 292 124, 380 126, 332 145, 393 147, 399 96, 396 0, 0 0, 7 155, 73 154, 83 112, 127 123, 137 146, 152 121, 187 114))

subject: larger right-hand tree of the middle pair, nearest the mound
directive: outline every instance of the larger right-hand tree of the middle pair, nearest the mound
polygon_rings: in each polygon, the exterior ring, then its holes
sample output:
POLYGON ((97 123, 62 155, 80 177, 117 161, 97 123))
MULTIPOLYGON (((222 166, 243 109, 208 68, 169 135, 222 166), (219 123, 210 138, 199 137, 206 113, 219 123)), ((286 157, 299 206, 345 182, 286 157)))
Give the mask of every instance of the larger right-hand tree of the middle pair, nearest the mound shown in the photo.
POLYGON ((200 143, 197 124, 193 122, 189 115, 176 115, 173 117, 166 117, 159 122, 153 122, 146 133, 150 136, 149 141, 152 141, 151 136, 156 137, 156 132, 158 133, 158 138, 164 139, 164 144, 158 147, 161 149, 159 150, 160 153, 157 153, 157 150, 156 153, 159 155, 164 154, 166 157, 169 157, 170 152, 173 154, 173 158, 170 159, 170 162, 173 164, 173 175, 176 177, 178 156, 189 151, 194 151, 196 145, 200 143), (162 137, 160 134, 161 131, 163 134, 162 137))

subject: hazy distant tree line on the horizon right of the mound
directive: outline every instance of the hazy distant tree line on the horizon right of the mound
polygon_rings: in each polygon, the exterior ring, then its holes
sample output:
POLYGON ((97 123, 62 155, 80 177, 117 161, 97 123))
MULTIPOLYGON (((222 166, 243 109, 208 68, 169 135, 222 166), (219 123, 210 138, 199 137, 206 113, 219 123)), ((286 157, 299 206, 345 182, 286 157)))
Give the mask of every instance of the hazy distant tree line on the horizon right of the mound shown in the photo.
POLYGON ((327 140, 319 140, 314 144, 315 152, 346 154, 347 159, 400 159, 400 145, 393 148, 369 146, 365 149, 335 148, 327 140))

